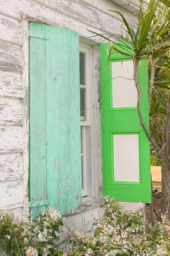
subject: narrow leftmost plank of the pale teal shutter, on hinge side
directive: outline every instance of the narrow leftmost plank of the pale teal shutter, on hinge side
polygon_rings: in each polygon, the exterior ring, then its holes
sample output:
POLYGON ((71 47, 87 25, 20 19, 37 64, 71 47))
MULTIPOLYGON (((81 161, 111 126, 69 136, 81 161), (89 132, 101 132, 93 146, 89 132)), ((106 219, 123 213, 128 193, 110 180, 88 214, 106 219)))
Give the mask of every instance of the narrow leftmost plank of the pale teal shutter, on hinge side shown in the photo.
MULTIPOLYGON (((41 24, 31 23, 31 31, 45 33, 41 24)), ((47 199, 46 187, 46 45, 44 39, 30 37, 30 201, 37 202, 33 216, 47 199)))

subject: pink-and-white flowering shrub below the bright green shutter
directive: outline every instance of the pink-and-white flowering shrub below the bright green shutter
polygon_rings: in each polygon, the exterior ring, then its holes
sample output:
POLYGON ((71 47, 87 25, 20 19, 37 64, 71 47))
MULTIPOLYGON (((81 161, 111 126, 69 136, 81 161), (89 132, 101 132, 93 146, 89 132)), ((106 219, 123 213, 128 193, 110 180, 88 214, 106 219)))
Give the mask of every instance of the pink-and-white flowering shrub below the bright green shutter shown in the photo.
POLYGON ((104 217, 94 219, 94 236, 70 233, 72 256, 163 256, 170 255, 170 223, 156 223, 150 233, 143 232, 143 212, 124 212, 113 199, 105 198, 104 217))

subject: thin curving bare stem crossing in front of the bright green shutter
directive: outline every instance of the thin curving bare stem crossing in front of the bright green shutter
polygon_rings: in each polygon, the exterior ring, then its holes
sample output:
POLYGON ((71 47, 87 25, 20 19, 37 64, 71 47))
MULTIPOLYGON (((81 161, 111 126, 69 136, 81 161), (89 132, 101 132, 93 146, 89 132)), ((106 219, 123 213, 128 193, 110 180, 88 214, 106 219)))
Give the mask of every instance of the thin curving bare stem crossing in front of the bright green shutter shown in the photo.
POLYGON ((149 139, 150 143, 152 143, 152 145, 155 147, 155 149, 157 151, 159 151, 160 150, 159 146, 155 143, 155 141, 150 136, 150 133, 146 129, 146 126, 145 126, 145 123, 144 123, 143 117, 142 117, 142 112, 140 109, 140 88, 139 88, 139 84, 138 84, 138 61, 137 60, 134 60, 134 82, 135 82, 135 86, 137 89, 137 113, 139 116, 140 124, 141 124, 143 130, 145 131, 146 136, 149 139))

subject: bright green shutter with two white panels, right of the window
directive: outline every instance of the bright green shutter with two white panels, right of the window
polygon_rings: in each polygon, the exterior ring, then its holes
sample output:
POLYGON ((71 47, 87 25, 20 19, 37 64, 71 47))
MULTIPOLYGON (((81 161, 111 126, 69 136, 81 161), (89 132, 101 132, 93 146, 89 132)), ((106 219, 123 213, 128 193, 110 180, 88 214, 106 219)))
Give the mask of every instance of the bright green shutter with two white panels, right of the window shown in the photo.
MULTIPOLYGON (((138 79, 140 107, 149 129, 145 60, 139 63, 138 79)), ((133 60, 114 52, 108 63, 107 43, 101 44, 101 91, 104 196, 116 201, 150 203, 149 140, 140 125, 137 96, 133 97, 136 94, 133 60)))

